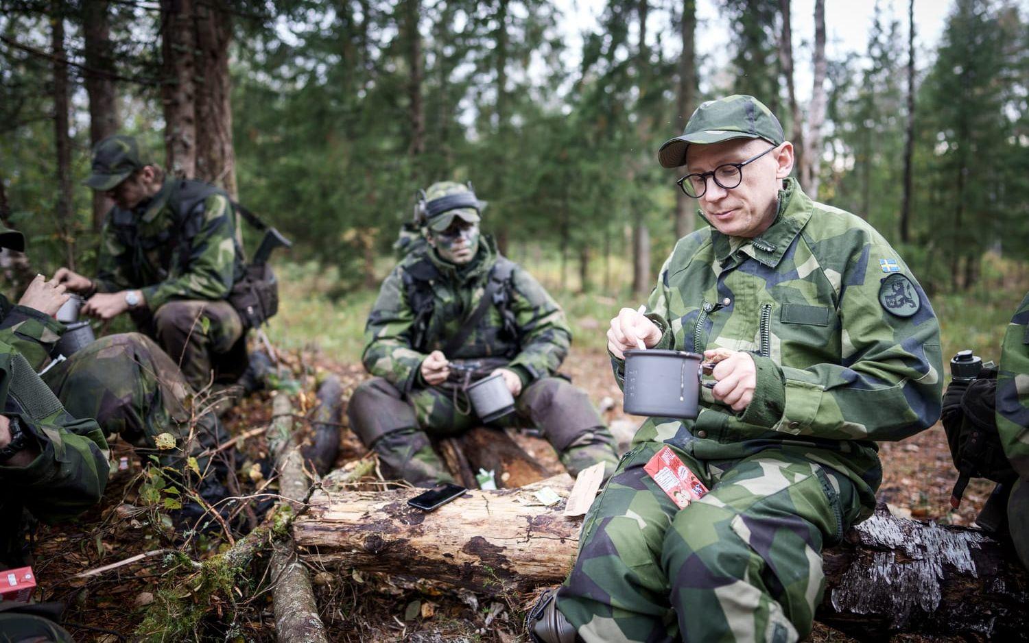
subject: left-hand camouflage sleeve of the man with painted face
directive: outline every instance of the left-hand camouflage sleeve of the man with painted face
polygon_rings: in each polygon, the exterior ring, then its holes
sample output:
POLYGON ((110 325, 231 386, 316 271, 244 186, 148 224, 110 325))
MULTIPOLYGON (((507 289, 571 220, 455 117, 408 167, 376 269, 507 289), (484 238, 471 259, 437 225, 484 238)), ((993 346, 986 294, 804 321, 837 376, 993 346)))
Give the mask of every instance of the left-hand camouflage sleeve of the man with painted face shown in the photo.
POLYGON ((379 297, 364 326, 361 362, 371 374, 385 378, 406 393, 418 381, 425 354, 412 348, 415 313, 403 288, 403 269, 393 269, 379 290, 379 297))

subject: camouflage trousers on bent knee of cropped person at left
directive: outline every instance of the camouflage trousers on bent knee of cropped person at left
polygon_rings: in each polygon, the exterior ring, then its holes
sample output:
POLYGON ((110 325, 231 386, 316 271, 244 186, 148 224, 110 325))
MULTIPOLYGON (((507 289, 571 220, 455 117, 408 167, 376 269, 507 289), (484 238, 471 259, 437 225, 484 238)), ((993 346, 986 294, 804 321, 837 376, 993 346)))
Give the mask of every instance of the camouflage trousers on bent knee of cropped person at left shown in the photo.
MULTIPOLYGON (((138 332, 101 337, 43 374, 69 415, 94 418, 107 434, 117 433, 146 459, 182 470, 185 459, 227 439, 214 413, 193 407, 194 394, 178 366, 149 337, 138 332), (162 433, 175 449, 158 450, 162 433)), ((199 405, 199 402, 198 402, 199 405)), ((198 461, 201 471, 207 460, 198 461)))

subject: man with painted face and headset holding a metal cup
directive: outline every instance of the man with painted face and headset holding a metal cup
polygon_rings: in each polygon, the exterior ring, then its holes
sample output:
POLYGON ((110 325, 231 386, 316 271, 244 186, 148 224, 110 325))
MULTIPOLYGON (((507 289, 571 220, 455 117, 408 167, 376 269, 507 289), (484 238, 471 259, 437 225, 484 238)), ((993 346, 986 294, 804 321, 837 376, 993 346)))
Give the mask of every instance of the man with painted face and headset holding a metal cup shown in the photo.
POLYGON ((516 399, 516 412, 491 426, 535 425, 572 475, 598 462, 610 474, 610 432, 586 392, 555 377, 571 344, 564 314, 482 235, 485 205, 460 183, 426 190, 427 245, 386 278, 368 316, 362 361, 375 377, 354 392, 350 425, 388 475, 425 487, 453 481, 429 436, 483 424, 454 385, 474 364, 480 374, 500 373, 516 399), (492 303, 465 327, 485 296, 492 303))

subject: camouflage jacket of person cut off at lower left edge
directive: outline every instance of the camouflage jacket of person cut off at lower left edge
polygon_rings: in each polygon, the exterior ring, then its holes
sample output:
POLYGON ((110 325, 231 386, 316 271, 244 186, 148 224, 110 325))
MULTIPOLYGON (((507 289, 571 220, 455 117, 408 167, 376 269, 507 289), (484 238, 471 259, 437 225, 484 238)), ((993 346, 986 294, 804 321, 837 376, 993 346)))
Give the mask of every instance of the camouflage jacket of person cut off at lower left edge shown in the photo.
POLYGON ((109 466, 107 441, 96 421, 69 416, 19 349, 4 338, 3 415, 17 418, 39 455, 25 467, 0 464, 0 568, 21 563, 23 508, 44 523, 75 516, 100 500, 109 466))

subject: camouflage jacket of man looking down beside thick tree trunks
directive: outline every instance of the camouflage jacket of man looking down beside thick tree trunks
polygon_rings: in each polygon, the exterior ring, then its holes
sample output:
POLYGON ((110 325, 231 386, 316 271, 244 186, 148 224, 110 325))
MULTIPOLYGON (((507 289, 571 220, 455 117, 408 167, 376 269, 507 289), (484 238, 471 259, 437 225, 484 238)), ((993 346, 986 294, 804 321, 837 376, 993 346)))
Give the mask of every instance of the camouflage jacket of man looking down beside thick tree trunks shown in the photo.
POLYGON ((243 275, 242 248, 236 210, 224 191, 166 180, 136 210, 115 206, 107 213, 97 290, 140 288, 151 311, 172 299, 224 299, 243 275), (194 194, 202 201, 188 208, 194 194), (188 209, 184 221, 180 209, 188 209))

